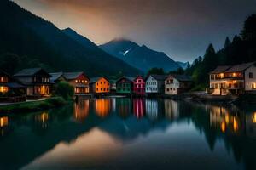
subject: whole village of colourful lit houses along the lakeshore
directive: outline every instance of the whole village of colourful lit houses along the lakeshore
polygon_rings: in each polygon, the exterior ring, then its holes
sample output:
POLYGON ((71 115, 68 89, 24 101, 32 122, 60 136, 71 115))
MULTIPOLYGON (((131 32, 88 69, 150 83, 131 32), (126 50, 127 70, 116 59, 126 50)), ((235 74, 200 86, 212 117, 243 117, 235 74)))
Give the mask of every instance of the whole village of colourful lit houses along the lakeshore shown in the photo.
MULTIPOLYGON (((209 72, 209 88, 205 94, 212 96, 256 93, 256 62, 241 65, 220 65, 209 72)), ((88 77, 81 72, 49 73, 42 68, 18 71, 15 75, 0 71, 1 103, 14 103, 29 99, 50 97, 55 84, 69 82, 75 96, 175 96, 189 93, 192 78, 185 75, 148 75, 143 77, 88 77)))

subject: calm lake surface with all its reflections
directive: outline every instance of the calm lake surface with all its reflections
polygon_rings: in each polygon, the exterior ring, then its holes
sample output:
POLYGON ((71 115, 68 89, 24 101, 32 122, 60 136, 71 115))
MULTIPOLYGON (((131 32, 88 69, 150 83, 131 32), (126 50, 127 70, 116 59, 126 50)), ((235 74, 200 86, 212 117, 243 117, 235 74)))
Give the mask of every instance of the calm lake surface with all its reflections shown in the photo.
POLYGON ((0 115, 0 169, 256 169, 256 107, 87 99, 0 115))

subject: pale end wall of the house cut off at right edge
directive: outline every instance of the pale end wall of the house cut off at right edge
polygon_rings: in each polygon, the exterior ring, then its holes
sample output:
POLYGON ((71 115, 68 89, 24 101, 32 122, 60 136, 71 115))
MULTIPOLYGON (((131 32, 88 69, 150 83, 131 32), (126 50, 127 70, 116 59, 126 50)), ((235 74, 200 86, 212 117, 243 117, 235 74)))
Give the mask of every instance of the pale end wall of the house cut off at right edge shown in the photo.
POLYGON ((256 92, 256 66, 252 65, 245 72, 245 91, 254 91, 256 92), (249 74, 253 73, 253 78, 249 77, 249 74), (255 87, 253 89, 253 87, 255 87))

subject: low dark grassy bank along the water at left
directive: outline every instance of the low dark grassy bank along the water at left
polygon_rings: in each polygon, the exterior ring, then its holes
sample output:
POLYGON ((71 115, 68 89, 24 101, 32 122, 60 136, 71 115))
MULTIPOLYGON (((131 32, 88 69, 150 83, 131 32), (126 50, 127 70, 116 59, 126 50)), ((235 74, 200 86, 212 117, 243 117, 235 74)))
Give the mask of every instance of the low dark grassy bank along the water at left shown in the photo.
POLYGON ((65 100, 62 97, 52 97, 45 100, 24 102, 14 105, 0 106, 0 113, 16 113, 16 112, 31 112, 31 111, 44 111, 54 107, 60 107, 71 103, 71 100, 65 100))

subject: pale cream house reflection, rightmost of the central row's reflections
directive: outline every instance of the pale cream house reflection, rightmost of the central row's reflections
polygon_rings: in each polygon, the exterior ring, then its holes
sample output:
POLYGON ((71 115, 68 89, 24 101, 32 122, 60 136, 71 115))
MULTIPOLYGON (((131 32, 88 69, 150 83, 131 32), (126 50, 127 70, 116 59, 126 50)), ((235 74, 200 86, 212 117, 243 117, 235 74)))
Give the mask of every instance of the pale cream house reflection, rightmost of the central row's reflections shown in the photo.
POLYGON ((177 119, 179 117, 179 107, 176 101, 165 99, 166 117, 169 119, 177 119))

